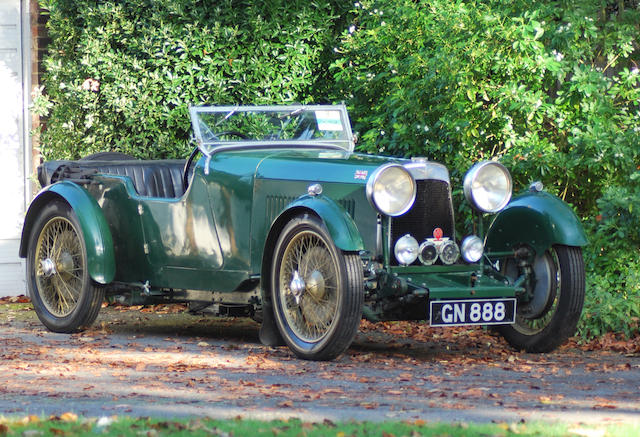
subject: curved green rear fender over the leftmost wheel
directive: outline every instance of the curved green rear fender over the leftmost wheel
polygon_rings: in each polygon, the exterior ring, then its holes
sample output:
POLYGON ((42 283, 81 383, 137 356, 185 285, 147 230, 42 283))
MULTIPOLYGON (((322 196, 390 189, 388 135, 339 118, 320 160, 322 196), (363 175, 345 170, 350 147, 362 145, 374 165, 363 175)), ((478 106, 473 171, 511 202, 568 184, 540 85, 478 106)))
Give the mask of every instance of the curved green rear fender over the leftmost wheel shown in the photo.
POLYGON ((116 272, 113 238, 98 202, 81 186, 62 181, 49 185, 33 199, 22 228, 20 256, 26 258, 29 249, 31 228, 42 207, 62 199, 69 204, 78 217, 87 251, 87 267, 91 278, 99 284, 113 281, 116 272))

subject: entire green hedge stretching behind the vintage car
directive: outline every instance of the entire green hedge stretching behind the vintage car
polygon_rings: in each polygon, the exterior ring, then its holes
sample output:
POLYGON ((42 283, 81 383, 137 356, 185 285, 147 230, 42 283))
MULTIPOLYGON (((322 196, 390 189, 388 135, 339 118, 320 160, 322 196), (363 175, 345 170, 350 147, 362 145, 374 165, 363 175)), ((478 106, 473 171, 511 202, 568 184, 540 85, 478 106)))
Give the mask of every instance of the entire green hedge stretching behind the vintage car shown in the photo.
POLYGON ((638 1, 41 3, 46 158, 185 156, 190 103, 344 100, 362 151, 427 156, 456 186, 500 159, 518 189, 573 205, 591 239, 582 334, 638 333, 638 1))

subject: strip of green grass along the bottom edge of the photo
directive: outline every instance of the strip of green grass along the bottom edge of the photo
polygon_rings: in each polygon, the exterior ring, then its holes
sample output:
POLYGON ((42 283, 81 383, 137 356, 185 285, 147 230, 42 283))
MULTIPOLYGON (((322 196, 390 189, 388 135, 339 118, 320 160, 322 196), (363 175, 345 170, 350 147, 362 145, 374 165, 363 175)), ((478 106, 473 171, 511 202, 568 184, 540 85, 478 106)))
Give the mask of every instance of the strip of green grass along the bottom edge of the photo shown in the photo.
POLYGON ((29 416, 21 419, 0 418, 1 436, 45 437, 73 435, 101 436, 637 436, 639 425, 609 425, 595 427, 571 424, 535 423, 427 423, 414 422, 303 422, 288 421, 263 422, 257 420, 179 419, 164 420, 153 418, 102 417, 78 418, 75 414, 41 419, 29 416))

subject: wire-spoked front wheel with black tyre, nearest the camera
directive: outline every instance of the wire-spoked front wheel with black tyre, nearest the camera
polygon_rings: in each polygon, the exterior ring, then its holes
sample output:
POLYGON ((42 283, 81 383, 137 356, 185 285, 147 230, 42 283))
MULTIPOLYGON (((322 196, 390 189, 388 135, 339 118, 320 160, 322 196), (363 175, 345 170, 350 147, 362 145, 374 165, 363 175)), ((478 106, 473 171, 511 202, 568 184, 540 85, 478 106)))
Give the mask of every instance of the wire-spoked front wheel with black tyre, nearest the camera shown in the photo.
POLYGON ((331 360, 349 347, 362 318, 362 262, 336 248, 318 218, 300 216, 284 227, 271 290, 278 329, 298 357, 331 360))

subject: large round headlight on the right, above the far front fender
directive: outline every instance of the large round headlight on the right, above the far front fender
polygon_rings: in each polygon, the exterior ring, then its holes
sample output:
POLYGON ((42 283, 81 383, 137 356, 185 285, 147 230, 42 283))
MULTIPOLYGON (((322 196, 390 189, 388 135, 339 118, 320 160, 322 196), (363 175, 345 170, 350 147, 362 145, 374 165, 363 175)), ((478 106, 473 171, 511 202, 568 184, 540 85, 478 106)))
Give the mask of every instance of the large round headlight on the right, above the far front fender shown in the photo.
POLYGON ((511 200, 511 175, 500 163, 479 162, 464 177, 464 195, 483 212, 498 212, 511 200))

